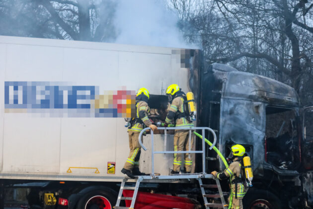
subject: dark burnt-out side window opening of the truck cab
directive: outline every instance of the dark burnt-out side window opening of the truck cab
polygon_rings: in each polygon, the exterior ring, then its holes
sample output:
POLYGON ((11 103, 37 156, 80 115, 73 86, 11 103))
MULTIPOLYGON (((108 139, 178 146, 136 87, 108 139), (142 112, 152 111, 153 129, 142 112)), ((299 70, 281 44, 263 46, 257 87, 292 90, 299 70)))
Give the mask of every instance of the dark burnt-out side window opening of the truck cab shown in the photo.
POLYGON ((266 161, 280 169, 300 162, 299 122, 294 109, 266 107, 266 161))

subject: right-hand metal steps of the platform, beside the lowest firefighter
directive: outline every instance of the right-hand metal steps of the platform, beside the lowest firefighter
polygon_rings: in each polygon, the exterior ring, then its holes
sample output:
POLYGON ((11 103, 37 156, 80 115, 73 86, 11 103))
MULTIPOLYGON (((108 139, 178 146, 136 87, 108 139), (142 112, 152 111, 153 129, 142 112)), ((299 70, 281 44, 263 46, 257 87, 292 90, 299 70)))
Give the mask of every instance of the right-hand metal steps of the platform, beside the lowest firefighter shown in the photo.
POLYGON ((228 209, 228 205, 226 205, 224 195, 222 192, 222 188, 221 188, 221 184, 220 184, 220 181, 218 179, 215 179, 216 184, 211 184, 211 185, 202 184, 202 180, 200 178, 197 180, 198 180, 199 185, 200 185, 200 189, 201 189, 201 193, 202 193, 202 197, 203 197, 204 205, 205 205, 206 209, 210 209, 210 207, 228 209), (219 190, 219 194, 208 195, 205 193, 204 188, 217 188, 219 190), (220 203, 209 203, 207 198, 220 198, 222 201, 222 204, 220 204, 220 203))

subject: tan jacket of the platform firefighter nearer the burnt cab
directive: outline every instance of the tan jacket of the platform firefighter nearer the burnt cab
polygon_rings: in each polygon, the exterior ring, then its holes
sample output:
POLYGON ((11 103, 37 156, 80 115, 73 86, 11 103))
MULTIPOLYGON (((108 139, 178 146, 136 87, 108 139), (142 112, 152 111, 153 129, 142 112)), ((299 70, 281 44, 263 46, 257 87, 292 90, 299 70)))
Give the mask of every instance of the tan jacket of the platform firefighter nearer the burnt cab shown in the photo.
POLYGON ((176 127, 193 127, 193 123, 187 120, 186 116, 182 116, 185 113, 183 97, 175 97, 172 103, 168 105, 167 111, 168 113, 165 118, 167 124, 173 123, 176 120, 176 127))

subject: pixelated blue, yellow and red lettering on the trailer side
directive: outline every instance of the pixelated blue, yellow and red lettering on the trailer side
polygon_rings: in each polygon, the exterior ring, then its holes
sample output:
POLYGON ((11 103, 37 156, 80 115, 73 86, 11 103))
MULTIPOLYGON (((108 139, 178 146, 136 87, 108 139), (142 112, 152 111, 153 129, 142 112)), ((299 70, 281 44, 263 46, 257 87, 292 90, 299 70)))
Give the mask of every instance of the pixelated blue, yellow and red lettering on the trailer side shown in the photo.
POLYGON ((5 113, 50 117, 135 117, 135 91, 122 87, 99 92, 99 86, 66 82, 4 82, 5 113))

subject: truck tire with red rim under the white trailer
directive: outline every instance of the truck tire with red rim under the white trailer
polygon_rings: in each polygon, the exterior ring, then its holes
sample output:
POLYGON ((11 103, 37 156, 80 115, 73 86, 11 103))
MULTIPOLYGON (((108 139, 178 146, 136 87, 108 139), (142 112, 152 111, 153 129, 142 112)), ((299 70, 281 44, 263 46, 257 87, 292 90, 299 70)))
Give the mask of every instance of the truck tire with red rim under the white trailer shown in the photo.
POLYGON ((116 200, 114 190, 98 189, 83 195, 78 201, 77 209, 113 209, 116 200))

